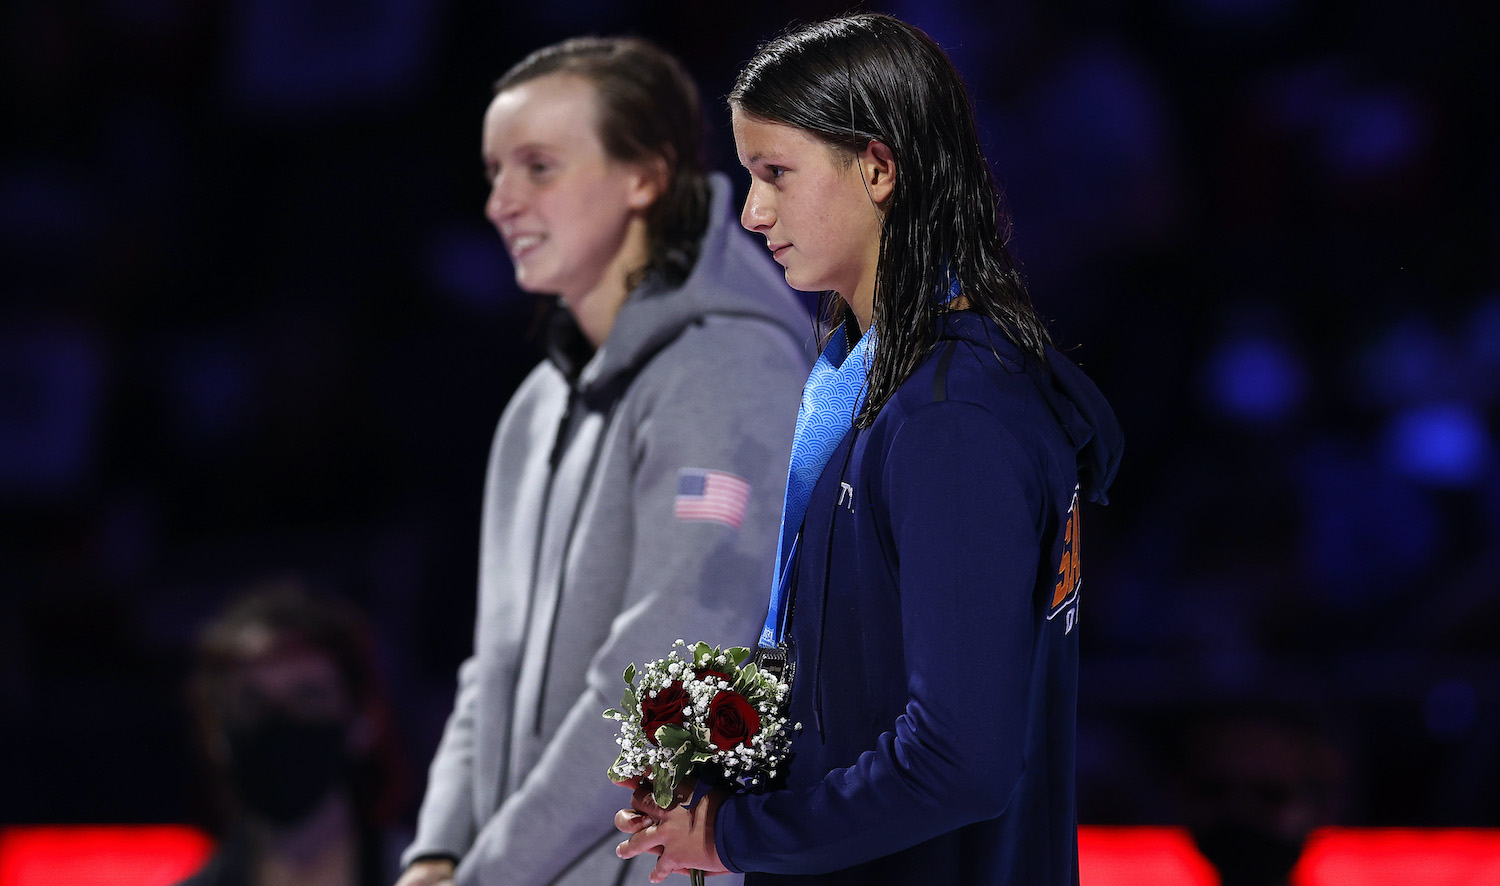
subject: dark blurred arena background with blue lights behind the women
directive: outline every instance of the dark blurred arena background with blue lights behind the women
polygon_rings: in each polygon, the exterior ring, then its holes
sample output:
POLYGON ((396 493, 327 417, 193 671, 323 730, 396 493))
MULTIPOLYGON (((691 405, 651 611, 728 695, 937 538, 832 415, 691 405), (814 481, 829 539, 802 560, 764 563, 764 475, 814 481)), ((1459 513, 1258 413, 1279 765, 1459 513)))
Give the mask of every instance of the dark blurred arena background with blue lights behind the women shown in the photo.
MULTIPOLYGON (((1500 883, 1486 6, 868 6, 963 70, 1036 304, 1125 427, 1083 513, 1086 886, 1192 868, 1184 828, 1226 804, 1474 865, 1390 882, 1500 883)), ((74 882, 16 862, 27 837, 213 832, 196 636, 286 579, 374 625, 410 828, 471 646, 489 436, 538 358, 482 214, 490 82, 564 36, 651 37, 742 195, 735 70, 846 10, 4 4, 0 885, 74 882), (38 831, 86 825, 136 829, 38 831)), ((1332 882, 1312 861, 1300 883, 1332 882)), ((1212 882, 1180 876, 1143 882, 1212 882)))

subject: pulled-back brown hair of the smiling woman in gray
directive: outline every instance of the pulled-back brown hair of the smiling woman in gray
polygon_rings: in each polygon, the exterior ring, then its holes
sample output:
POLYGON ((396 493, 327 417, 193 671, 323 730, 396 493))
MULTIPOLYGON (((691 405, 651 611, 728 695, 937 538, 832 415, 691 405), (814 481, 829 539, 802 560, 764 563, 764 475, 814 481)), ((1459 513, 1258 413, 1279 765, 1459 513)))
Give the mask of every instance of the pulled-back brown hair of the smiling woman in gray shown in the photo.
POLYGON ((598 141, 610 159, 666 160, 666 187, 646 210, 646 264, 627 286, 651 274, 680 285, 698 261, 708 223, 704 111, 693 78, 676 58, 639 37, 573 37, 518 61, 495 81, 495 94, 549 73, 572 73, 594 85, 598 141))

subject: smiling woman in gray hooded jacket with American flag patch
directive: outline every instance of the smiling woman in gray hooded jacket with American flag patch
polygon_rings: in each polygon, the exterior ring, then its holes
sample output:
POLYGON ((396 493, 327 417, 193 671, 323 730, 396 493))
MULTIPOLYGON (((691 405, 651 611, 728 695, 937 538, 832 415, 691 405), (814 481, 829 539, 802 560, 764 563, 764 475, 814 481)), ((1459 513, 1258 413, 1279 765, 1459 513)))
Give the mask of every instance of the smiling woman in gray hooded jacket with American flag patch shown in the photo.
POLYGON ((555 298, 490 450, 474 651, 400 886, 621 882, 621 673, 765 616, 813 324, 702 135, 696 85, 639 39, 566 40, 495 87, 484 213, 555 298))

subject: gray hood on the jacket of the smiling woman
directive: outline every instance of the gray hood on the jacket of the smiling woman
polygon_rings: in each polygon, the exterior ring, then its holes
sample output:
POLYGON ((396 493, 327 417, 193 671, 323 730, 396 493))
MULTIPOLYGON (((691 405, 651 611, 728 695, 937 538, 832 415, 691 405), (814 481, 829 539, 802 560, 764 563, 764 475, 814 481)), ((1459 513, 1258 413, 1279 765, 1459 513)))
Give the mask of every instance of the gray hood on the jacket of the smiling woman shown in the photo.
MULTIPOLYGON (((646 280, 626 297, 609 337, 578 370, 574 384, 585 396, 627 379, 682 328, 710 315, 760 318, 783 327, 800 343, 810 340, 807 310, 766 252, 735 220, 729 178, 710 172, 708 183, 708 225, 692 273, 680 286, 646 280)), ((548 330, 549 358, 572 378, 566 354, 578 354, 579 348, 568 339, 582 336, 566 310, 558 313, 562 318, 548 330)))

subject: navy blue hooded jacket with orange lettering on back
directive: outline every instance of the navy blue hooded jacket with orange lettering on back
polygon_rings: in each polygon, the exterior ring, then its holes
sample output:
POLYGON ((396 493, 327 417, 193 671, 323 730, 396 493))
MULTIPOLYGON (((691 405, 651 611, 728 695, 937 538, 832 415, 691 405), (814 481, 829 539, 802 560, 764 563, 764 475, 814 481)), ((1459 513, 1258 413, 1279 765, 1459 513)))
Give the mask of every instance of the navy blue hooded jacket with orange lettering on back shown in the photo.
POLYGON ((786 786, 716 841, 747 883, 1077 883, 1078 505, 1120 430, 972 312, 828 460, 802 522, 786 786), (996 354, 999 360, 996 360, 996 354))

